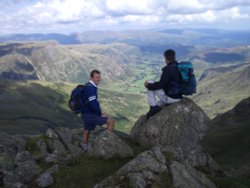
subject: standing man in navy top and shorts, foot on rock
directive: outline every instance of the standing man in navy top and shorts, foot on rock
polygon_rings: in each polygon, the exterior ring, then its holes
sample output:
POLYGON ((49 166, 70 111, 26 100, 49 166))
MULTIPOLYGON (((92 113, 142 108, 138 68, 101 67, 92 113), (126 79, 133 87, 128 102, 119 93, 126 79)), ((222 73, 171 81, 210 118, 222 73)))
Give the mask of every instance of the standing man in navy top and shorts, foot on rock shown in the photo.
POLYGON ((113 131, 115 121, 112 117, 102 113, 98 102, 97 85, 101 81, 101 73, 98 70, 93 70, 90 73, 90 81, 85 86, 84 98, 86 101, 82 109, 82 119, 84 123, 83 143, 81 144, 85 152, 89 149, 89 135, 92 130, 95 130, 96 125, 107 124, 107 129, 113 131))

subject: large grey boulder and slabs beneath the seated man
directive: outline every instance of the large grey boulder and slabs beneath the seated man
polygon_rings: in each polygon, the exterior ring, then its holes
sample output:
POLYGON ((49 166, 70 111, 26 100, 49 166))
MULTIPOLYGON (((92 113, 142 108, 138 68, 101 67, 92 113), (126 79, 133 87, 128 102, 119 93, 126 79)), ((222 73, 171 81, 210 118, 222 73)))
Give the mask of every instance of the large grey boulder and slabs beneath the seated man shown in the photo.
POLYGON ((216 185, 197 166, 216 172, 219 165, 203 151, 200 140, 209 118, 192 100, 163 107, 135 123, 131 137, 145 149, 95 188, 197 187, 216 185))

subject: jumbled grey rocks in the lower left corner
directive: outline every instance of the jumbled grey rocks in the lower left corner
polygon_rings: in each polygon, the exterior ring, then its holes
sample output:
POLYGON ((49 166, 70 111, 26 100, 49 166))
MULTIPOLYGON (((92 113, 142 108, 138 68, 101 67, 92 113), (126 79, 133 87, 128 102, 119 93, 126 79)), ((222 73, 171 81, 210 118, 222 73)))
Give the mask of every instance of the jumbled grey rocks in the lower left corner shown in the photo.
POLYGON ((0 185, 26 187, 36 179, 39 187, 47 187, 54 180, 52 174, 58 164, 71 164, 82 153, 75 130, 48 129, 44 135, 12 136, 0 134, 0 185), (55 163, 42 172, 37 161, 55 163))

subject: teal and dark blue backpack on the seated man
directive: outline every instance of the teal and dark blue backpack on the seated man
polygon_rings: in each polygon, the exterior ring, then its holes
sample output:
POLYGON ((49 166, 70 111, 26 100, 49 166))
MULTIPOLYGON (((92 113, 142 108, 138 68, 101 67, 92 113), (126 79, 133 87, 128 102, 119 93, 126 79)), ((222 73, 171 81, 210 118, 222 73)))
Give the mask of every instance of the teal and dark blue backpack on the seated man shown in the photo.
POLYGON ((179 92, 183 95, 193 95, 196 93, 196 79, 194 75, 194 68, 191 62, 180 62, 178 63, 178 69, 181 75, 181 84, 173 83, 179 92))

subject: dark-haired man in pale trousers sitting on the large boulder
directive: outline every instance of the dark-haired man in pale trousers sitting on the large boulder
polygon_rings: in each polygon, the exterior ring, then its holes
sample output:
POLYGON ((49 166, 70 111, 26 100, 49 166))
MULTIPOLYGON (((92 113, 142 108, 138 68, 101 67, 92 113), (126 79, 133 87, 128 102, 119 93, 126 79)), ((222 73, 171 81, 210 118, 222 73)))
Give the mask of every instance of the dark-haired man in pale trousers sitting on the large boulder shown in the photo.
POLYGON ((161 110, 164 104, 171 104, 180 101, 182 94, 176 92, 174 83, 181 84, 181 75, 178 64, 175 60, 175 51, 168 49, 164 52, 166 66, 162 69, 160 81, 145 81, 144 85, 148 89, 147 97, 150 110, 147 118, 150 118, 161 110), (157 101, 156 96, 159 98, 157 101))

